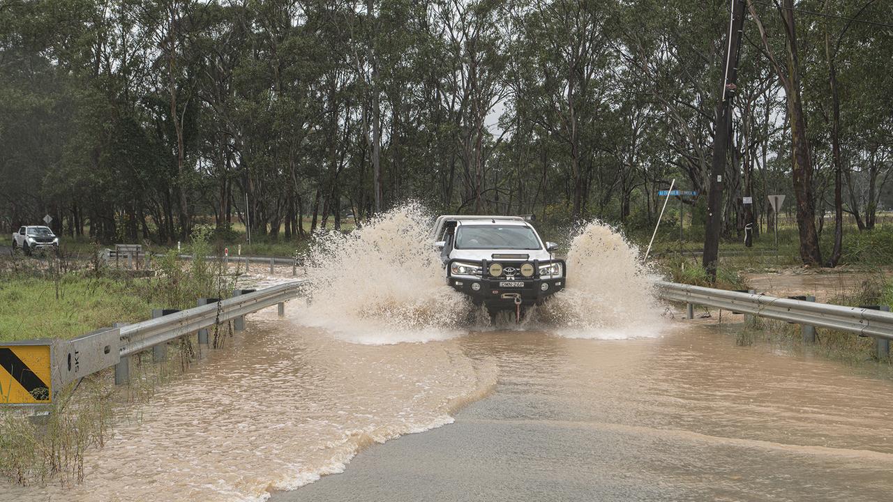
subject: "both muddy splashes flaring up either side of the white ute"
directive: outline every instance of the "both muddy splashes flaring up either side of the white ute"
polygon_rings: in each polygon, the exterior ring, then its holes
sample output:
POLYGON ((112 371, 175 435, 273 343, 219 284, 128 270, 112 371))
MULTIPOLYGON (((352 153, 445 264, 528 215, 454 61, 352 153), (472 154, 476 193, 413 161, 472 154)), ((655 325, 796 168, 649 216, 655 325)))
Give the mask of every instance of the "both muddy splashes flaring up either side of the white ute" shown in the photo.
MULTIPOLYGON (((313 302, 300 322, 371 344, 447 339, 492 328, 488 316, 469 315, 474 307, 468 299, 446 285, 430 246, 430 225, 429 213, 409 204, 350 234, 317 238, 308 257, 313 302)), ((506 317, 497 327, 589 339, 660 332, 654 278, 638 249, 619 232, 601 222, 581 226, 566 262, 567 289, 533 309, 521 326, 505 326, 513 323, 506 317)))

